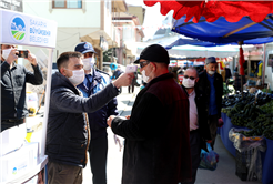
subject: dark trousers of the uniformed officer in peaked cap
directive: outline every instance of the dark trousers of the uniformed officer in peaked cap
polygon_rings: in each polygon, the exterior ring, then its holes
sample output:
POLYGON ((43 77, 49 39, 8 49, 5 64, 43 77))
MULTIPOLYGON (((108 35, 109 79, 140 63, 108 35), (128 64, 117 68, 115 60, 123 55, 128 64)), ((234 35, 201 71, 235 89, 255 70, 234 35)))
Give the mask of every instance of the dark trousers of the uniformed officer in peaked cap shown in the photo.
POLYGON ((107 156, 108 137, 91 140, 89 146, 89 157, 91 172, 93 174, 93 184, 107 184, 107 156))

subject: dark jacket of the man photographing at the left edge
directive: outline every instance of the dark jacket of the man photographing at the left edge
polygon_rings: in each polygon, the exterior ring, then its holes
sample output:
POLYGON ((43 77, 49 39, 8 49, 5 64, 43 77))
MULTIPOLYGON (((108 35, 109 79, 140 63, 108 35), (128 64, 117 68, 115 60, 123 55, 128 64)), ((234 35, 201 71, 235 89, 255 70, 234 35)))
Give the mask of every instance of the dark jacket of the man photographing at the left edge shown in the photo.
POLYGON ((0 120, 22 119, 28 115, 26 82, 40 85, 43 82, 39 65, 32 65, 34 73, 23 65, 0 60, 0 120))

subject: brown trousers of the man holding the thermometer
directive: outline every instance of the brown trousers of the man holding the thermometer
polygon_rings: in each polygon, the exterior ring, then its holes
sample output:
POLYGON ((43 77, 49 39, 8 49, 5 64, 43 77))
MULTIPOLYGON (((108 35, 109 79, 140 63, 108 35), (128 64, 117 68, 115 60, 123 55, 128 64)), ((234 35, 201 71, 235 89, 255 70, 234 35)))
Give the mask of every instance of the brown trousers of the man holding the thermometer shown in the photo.
POLYGON ((49 184, 81 184, 82 167, 48 162, 49 184))

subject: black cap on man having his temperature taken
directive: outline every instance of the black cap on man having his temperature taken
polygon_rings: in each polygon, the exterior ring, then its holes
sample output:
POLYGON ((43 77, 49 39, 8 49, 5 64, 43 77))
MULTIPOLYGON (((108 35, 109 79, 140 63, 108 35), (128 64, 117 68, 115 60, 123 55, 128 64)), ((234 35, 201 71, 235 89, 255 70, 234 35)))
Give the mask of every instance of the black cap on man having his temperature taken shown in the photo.
POLYGON ((140 63, 140 60, 149 60, 152 62, 160 62, 160 63, 166 63, 170 64, 170 58, 169 53, 160 44, 151 44, 146 47, 140 54, 140 58, 134 61, 135 64, 140 63))

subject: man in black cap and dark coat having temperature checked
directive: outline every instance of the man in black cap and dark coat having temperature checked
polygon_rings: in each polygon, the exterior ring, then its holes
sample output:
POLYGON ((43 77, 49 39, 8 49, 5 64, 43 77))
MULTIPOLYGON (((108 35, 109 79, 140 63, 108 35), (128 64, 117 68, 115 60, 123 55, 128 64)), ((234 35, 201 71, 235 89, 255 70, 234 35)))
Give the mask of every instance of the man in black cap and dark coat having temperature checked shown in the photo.
POLYGON ((108 125, 125 139, 122 184, 178 184, 191 180, 189 101, 169 73, 168 51, 152 44, 139 63, 146 86, 128 120, 111 115, 108 125))

